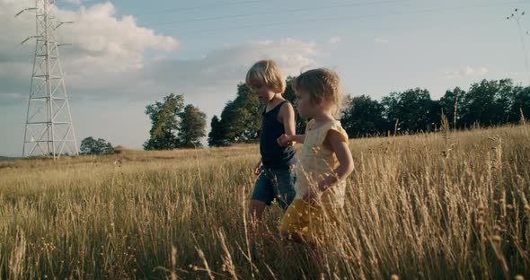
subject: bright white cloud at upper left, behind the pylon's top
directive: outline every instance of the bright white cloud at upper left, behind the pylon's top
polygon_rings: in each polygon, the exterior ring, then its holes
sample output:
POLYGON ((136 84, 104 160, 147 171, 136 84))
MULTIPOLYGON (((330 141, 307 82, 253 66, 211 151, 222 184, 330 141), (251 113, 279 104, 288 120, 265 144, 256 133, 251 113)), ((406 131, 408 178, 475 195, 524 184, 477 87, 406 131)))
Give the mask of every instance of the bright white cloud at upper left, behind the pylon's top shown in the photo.
MULTIPOLYGON (((13 15, 32 5, 31 0, 0 0, 0 18, 5 19, 0 37, 0 97, 7 97, 4 92, 26 92, 29 88, 35 42, 30 40, 23 46, 20 42, 35 33, 35 15, 13 15)), ((93 88, 100 81, 141 69, 147 49, 167 53, 179 47, 176 39, 137 26, 131 16, 117 18, 115 12, 110 3, 56 11, 57 21, 75 22, 61 26, 57 34, 60 43, 72 43, 60 48, 67 85, 93 88)))

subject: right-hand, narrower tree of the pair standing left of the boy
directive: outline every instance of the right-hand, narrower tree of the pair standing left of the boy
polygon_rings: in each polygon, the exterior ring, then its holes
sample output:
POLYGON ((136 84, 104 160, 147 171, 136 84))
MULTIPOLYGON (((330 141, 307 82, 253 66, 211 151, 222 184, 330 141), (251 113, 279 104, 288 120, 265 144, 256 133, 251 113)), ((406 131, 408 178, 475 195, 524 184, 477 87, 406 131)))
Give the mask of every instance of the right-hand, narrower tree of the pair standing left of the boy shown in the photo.
POLYGON ((193 105, 186 105, 181 113, 179 147, 201 147, 200 138, 206 136, 206 114, 193 105))

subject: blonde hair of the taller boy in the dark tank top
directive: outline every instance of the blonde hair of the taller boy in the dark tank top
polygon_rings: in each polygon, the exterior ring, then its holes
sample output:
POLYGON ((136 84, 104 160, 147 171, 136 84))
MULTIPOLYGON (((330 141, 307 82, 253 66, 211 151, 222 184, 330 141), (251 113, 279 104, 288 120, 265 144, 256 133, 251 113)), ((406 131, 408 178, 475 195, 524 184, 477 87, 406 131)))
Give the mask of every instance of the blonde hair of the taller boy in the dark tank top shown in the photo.
POLYGON ((276 62, 272 60, 260 60, 256 62, 245 79, 245 83, 251 88, 256 88, 257 84, 267 85, 272 92, 283 93, 286 91, 286 81, 279 70, 276 62))

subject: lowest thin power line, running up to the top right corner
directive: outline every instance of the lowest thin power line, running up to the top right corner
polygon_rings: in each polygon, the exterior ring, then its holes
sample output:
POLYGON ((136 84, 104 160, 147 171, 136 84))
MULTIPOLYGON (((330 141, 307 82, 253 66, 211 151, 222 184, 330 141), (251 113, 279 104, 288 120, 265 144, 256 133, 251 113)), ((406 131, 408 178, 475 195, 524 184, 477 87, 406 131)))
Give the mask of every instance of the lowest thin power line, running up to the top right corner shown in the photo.
POLYGON ((334 22, 334 21, 341 21, 341 20, 359 20, 359 19, 379 18, 379 17, 384 17, 384 16, 403 15, 403 14, 436 13, 440 11, 452 12, 452 11, 458 11, 458 10, 469 9, 469 8, 487 8, 487 7, 492 7, 492 6, 505 6, 505 5, 522 4, 522 3, 525 3, 525 1, 514 1, 514 2, 507 2, 507 3, 483 4, 483 5, 473 5, 473 6, 461 6, 461 7, 452 7, 452 8, 442 8, 442 9, 439 9, 439 8, 424 9, 424 10, 417 10, 417 11, 407 11, 407 12, 402 12, 402 13, 381 13, 381 14, 369 14, 369 15, 360 15, 360 16, 346 15, 346 16, 340 16, 340 17, 322 18, 322 19, 317 19, 317 20, 250 24, 250 25, 234 26, 231 28, 222 28, 222 29, 210 29, 210 30, 198 30, 198 31, 176 31, 174 33, 171 33, 171 35, 199 34, 199 33, 208 33, 208 32, 216 32, 216 31, 234 31, 234 30, 244 30, 244 29, 249 29, 249 28, 254 28, 254 27, 271 27, 271 26, 282 26, 282 25, 297 24, 297 23, 309 23, 309 22, 334 22))

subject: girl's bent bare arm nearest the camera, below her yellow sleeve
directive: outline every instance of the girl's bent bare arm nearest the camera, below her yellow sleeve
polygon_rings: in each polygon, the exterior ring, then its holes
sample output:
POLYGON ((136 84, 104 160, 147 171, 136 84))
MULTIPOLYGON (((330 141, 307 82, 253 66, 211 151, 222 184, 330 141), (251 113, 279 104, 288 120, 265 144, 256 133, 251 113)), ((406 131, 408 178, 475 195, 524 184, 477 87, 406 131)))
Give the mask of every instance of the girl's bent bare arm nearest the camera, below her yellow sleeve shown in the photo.
POLYGON ((318 188, 320 191, 324 191, 330 188, 336 182, 346 179, 349 174, 354 170, 353 158, 349 151, 348 143, 344 141, 339 132, 334 130, 328 131, 326 141, 330 144, 331 151, 337 156, 339 166, 333 171, 334 174, 329 174, 324 177, 319 183, 318 188))

